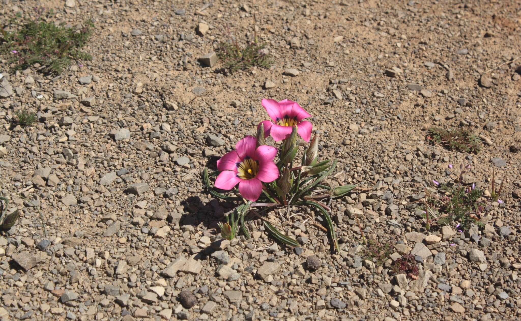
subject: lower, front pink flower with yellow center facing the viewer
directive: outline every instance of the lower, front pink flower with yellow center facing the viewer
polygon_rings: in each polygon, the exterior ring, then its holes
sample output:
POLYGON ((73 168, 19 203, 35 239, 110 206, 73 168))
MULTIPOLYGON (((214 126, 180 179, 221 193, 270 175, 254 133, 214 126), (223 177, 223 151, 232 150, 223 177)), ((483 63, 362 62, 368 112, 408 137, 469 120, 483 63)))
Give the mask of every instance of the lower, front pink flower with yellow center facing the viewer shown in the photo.
POLYGON ((215 180, 215 187, 231 190, 239 184, 242 197, 256 201, 261 195, 262 183, 272 182, 279 177, 279 169, 273 162, 275 155, 275 147, 257 147, 255 137, 244 137, 235 145, 235 151, 226 153, 217 161, 217 169, 221 172, 215 180))

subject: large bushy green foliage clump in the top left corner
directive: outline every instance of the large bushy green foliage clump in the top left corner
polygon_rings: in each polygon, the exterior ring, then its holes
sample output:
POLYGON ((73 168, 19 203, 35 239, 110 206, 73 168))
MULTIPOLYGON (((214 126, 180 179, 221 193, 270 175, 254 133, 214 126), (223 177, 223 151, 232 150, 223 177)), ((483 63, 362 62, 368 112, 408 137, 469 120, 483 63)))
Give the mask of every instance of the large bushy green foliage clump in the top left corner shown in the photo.
POLYGON ((0 27, 2 44, 0 54, 9 57, 14 69, 26 69, 35 64, 42 66, 44 73, 59 74, 68 68, 73 60, 91 60, 92 56, 81 51, 89 40, 94 24, 85 21, 79 29, 67 28, 48 21, 53 10, 43 16, 44 9, 35 9, 34 19, 22 18, 20 14, 11 19, 8 31, 0 27))

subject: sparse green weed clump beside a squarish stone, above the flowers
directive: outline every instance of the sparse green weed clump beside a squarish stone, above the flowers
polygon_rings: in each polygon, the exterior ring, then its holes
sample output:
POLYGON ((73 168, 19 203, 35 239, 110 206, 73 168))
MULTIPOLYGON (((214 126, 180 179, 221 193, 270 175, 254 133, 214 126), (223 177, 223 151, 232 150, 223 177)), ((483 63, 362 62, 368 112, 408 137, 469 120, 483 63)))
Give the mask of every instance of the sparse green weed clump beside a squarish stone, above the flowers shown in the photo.
POLYGON ((259 43, 257 33, 254 31, 253 41, 248 41, 244 46, 239 45, 237 36, 231 36, 227 28, 229 40, 221 42, 217 50, 217 56, 225 66, 225 70, 233 73, 238 70, 247 70, 252 67, 269 68, 271 59, 264 53, 264 43, 259 43))

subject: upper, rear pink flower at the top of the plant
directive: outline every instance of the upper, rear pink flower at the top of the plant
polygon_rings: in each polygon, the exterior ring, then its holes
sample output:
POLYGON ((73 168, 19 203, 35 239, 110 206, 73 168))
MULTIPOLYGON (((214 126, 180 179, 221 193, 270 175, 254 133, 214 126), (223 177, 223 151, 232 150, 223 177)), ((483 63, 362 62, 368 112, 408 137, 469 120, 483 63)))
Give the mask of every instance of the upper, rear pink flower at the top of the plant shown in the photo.
MULTIPOLYGON (((292 101, 284 99, 277 102, 272 99, 263 99, 261 102, 262 106, 268 112, 271 120, 264 120, 261 124, 264 124, 264 137, 271 137, 275 141, 285 139, 291 134, 293 127, 297 127, 297 133, 302 137, 303 140, 309 142, 311 138, 311 130, 313 125, 311 122, 302 119, 311 117, 302 107, 292 101)), ((259 126, 261 125, 259 124, 259 126)))

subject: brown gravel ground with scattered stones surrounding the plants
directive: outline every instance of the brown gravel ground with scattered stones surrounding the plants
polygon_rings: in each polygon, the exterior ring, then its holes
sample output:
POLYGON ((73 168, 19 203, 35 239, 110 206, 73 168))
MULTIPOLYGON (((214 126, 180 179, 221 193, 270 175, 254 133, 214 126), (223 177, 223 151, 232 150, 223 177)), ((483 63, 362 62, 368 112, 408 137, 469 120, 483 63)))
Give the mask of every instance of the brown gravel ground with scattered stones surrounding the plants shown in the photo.
MULTIPOLYGON (((0 3, 2 23, 37 5, 0 3)), ((0 235, 0 318, 521 318, 519 3, 41 4, 71 26, 94 21, 94 59, 59 77, 0 61, 0 190, 22 213, 0 235), (201 64, 227 24, 240 40, 255 28, 271 68, 201 64), (339 159, 328 183, 358 184, 331 203, 340 253, 306 212, 283 223, 301 248, 255 219, 252 239, 220 238, 233 204, 204 192, 202 169, 267 119, 262 98, 299 102, 319 155, 339 159), (36 125, 13 125, 23 107, 36 125), (428 144, 431 126, 485 143, 477 155, 448 151, 428 144), (470 164, 465 183, 487 189, 492 163, 503 203, 491 202, 484 228, 426 232, 411 202, 432 180, 453 182, 470 164), (384 262, 364 255, 358 213, 368 239, 391 244, 384 262), (417 277, 391 269, 406 254, 417 277)))

